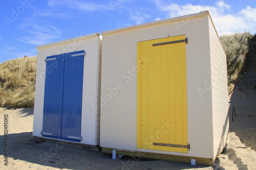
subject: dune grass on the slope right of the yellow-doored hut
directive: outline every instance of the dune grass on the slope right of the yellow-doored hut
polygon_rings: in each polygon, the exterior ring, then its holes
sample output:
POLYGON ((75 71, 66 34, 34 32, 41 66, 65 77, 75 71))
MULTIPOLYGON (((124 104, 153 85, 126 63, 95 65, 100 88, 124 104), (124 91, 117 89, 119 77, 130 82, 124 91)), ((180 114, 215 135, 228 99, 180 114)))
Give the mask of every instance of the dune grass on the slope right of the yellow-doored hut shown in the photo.
POLYGON ((237 80, 244 66, 245 56, 249 51, 248 40, 252 37, 249 32, 220 36, 227 55, 228 86, 237 80))

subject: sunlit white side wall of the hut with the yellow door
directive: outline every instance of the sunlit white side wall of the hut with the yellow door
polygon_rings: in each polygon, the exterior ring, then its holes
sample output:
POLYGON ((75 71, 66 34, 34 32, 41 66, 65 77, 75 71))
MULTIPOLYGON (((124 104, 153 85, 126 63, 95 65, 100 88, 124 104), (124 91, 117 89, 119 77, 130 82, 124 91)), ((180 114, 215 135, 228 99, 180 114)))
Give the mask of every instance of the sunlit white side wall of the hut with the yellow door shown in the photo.
POLYGON ((212 84, 212 125, 214 157, 225 147, 228 140, 228 90, 226 54, 209 18, 210 62, 212 84))

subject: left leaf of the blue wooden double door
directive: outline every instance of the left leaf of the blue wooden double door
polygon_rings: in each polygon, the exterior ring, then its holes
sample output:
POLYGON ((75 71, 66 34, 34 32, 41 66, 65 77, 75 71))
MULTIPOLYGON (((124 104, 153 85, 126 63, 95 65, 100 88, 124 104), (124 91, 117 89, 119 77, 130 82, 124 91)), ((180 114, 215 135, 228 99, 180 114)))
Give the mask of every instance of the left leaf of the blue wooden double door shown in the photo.
POLYGON ((61 139, 64 59, 64 54, 46 58, 42 136, 57 139, 61 139))

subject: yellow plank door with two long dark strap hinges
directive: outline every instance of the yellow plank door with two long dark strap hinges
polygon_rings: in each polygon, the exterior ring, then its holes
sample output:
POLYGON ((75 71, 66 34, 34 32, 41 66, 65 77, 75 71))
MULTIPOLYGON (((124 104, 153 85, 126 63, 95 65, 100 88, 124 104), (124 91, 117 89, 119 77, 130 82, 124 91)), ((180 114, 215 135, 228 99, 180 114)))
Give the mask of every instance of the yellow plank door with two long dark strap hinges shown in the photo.
POLYGON ((137 44, 138 149, 187 153, 185 39, 181 35, 137 44))

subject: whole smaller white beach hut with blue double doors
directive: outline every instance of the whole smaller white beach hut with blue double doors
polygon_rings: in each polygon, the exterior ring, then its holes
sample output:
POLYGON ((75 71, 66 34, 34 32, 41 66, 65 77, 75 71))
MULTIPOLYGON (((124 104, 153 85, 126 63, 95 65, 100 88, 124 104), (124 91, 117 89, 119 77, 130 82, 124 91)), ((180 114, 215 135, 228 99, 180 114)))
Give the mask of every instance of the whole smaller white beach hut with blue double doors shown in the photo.
POLYGON ((99 145, 99 33, 37 46, 33 136, 99 145))

